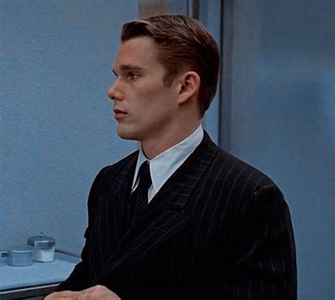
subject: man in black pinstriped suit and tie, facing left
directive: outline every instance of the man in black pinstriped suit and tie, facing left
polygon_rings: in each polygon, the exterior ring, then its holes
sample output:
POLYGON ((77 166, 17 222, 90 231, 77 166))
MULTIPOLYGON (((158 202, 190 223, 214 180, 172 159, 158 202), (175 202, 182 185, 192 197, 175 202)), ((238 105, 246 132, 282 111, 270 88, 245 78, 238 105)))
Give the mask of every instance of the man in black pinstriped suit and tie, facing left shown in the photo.
POLYGON ((126 23, 108 90, 121 138, 88 198, 86 245, 46 299, 296 299, 288 206, 266 175, 214 145, 201 118, 219 52, 196 20, 126 23))

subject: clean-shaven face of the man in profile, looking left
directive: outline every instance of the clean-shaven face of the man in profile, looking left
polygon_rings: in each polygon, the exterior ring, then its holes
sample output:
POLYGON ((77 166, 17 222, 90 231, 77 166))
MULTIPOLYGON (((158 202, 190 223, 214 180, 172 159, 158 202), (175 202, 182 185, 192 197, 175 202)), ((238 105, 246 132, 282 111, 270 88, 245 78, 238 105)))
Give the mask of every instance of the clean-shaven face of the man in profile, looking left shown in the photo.
POLYGON ((164 85, 166 70, 156 53, 149 37, 136 37, 119 47, 113 68, 117 78, 108 97, 114 101, 121 138, 143 142, 170 134, 177 110, 177 80, 164 85))

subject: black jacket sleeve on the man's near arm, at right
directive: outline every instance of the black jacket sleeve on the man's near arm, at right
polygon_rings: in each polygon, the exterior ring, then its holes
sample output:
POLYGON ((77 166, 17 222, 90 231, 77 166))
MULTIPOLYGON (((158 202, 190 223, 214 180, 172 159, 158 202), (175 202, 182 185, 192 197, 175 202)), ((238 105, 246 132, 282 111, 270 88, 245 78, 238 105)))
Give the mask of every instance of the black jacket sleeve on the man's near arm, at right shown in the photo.
POLYGON ((224 299, 297 299, 293 228, 277 186, 259 188, 242 205, 230 246, 224 299))

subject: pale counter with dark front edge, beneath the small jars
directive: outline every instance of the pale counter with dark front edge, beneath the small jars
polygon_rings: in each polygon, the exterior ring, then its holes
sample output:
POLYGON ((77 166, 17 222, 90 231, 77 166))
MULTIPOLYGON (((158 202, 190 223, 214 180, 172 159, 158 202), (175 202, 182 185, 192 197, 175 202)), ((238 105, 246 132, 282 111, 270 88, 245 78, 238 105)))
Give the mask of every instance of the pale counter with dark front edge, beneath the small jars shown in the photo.
POLYGON ((6 264, 6 258, 0 258, 0 300, 49 294, 66 280, 79 261, 80 258, 56 253, 50 263, 34 261, 27 267, 13 267, 6 264))

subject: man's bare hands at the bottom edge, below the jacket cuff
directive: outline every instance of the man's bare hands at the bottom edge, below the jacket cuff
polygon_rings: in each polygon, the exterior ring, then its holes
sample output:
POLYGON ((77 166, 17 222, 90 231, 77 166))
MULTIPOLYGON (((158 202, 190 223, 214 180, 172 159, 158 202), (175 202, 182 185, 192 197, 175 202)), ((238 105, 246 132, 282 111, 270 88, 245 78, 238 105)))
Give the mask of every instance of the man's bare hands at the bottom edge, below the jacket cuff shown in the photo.
POLYGON ((84 289, 80 292, 54 292, 45 297, 45 300, 121 300, 117 294, 112 292, 107 287, 95 285, 89 289, 84 289))

